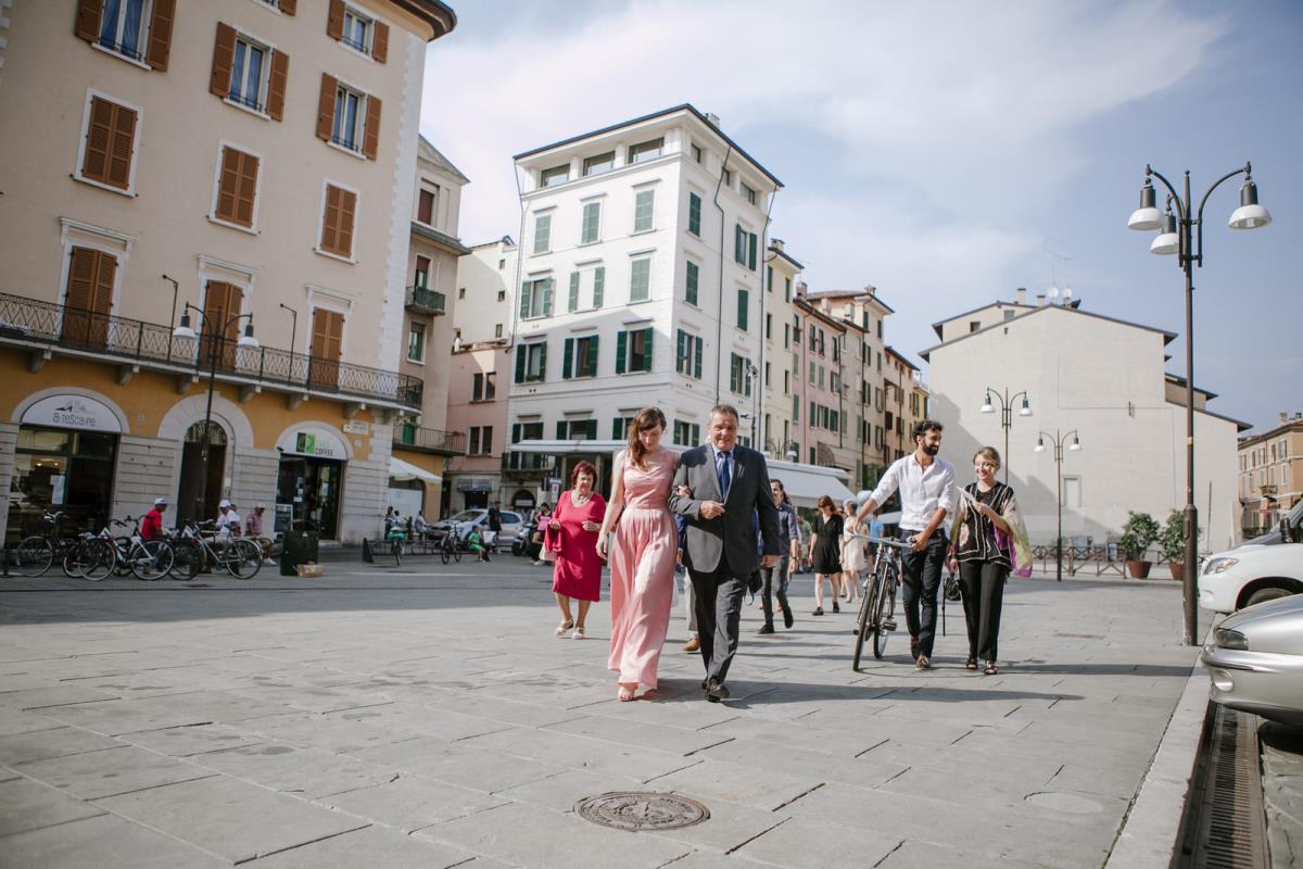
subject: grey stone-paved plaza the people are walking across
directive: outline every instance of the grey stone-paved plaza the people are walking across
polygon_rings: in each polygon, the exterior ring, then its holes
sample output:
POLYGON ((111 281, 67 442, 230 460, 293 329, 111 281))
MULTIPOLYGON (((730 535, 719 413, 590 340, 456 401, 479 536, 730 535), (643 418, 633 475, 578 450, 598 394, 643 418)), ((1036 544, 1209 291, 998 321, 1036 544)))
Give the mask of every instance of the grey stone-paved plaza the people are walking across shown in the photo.
POLYGON ((620 704, 606 601, 558 640, 513 558, 0 580, 0 866, 1105 862, 1196 657, 1175 582, 1015 580, 998 676, 963 668, 955 603, 936 670, 896 634, 855 672, 851 612, 810 618, 810 588, 794 631, 745 608, 731 701, 675 618, 659 692, 620 704), (573 813, 609 791, 710 818, 573 813))

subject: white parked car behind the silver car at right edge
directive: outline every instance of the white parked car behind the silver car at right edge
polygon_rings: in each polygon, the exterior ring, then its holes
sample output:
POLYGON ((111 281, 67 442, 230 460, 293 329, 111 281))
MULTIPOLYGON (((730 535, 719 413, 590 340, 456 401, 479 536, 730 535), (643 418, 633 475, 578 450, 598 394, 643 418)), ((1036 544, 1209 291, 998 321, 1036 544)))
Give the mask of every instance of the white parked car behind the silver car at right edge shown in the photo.
POLYGON ((1281 519, 1274 539, 1214 552, 1199 576, 1199 606, 1214 612, 1303 593, 1303 502, 1281 519))

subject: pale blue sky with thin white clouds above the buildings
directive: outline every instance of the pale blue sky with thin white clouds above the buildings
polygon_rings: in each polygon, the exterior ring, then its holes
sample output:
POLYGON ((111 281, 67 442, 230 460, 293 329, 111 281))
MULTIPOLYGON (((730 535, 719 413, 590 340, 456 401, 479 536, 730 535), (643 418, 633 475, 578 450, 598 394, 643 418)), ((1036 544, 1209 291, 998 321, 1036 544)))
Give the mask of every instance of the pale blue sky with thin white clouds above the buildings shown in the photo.
POLYGON ((1303 412, 1299 0, 451 5, 421 132, 470 178, 466 244, 517 235, 513 154, 692 103, 782 178, 769 235, 810 292, 877 287, 915 362, 932 323, 1053 285, 1177 332, 1183 377, 1182 270, 1126 221, 1147 164, 1197 207, 1251 160, 1273 223, 1226 227, 1240 178, 1208 199, 1195 382, 1255 431, 1303 412))

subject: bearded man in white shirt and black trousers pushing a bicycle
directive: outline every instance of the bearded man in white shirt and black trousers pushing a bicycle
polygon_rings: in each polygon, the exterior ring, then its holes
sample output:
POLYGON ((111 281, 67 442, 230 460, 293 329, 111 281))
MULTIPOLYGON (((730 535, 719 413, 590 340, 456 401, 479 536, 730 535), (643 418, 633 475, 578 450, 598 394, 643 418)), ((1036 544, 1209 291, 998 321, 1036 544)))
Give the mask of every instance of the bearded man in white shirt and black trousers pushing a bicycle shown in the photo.
POLYGON ((946 559, 946 534, 941 524, 955 512, 955 469, 945 459, 937 459, 941 429, 936 420, 923 420, 913 427, 915 451, 887 468, 859 512, 863 521, 893 492, 900 491, 900 538, 911 547, 903 559, 904 618, 909 627, 909 654, 919 670, 932 667, 937 589, 946 559))

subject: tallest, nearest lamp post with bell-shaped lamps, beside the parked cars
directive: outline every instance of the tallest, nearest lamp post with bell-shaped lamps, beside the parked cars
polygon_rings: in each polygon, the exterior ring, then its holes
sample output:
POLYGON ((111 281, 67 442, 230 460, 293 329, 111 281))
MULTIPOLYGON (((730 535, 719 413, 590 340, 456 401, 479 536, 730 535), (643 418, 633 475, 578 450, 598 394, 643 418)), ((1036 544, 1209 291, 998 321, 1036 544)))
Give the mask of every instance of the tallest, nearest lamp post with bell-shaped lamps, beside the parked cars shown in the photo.
POLYGON ((1239 189, 1239 207, 1231 212, 1227 225, 1231 229, 1257 229, 1272 221, 1272 215, 1263 206, 1257 205, 1257 185, 1253 184, 1252 164, 1244 163, 1243 168, 1227 172, 1208 188, 1204 198, 1199 201, 1199 211, 1192 212, 1194 201, 1190 198, 1190 172, 1186 172, 1184 197, 1177 193, 1167 178, 1156 172, 1153 167, 1144 168, 1144 185, 1140 188, 1140 207, 1136 208, 1127 220, 1127 227, 1139 232, 1161 229, 1149 251, 1161 255, 1177 254, 1177 266, 1186 272, 1186 509, 1183 529, 1186 535, 1186 552, 1181 572, 1183 614, 1184 614, 1184 642, 1192 646, 1199 642, 1195 637, 1196 629, 1196 589, 1195 575, 1199 571, 1199 511, 1195 507, 1195 264, 1204 266, 1204 205, 1208 197, 1222 181, 1237 175, 1244 176, 1244 182, 1239 189), (1167 188, 1166 214, 1158 211, 1153 181, 1158 178, 1162 186, 1167 188), (1175 205, 1177 212, 1171 208, 1175 205), (1196 231, 1197 228, 1197 231, 1196 231))

